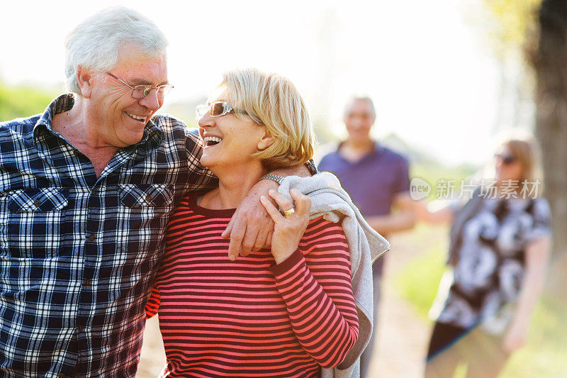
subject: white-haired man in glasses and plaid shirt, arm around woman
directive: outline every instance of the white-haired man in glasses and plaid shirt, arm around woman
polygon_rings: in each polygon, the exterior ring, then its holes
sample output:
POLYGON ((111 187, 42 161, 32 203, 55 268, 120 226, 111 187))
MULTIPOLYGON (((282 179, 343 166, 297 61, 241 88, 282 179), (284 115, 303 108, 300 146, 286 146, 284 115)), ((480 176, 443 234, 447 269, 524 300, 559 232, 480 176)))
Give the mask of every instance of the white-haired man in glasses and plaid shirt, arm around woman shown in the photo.
MULTIPOLYGON (((135 375, 169 216, 217 185, 198 133, 155 116, 166 47, 140 14, 101 11, 67 38, 73 94, 0 123, 1 377, 135 375)), ((274 187, 262 180, 232 218, 227 259, 269 244, 259 196, 274 187)))

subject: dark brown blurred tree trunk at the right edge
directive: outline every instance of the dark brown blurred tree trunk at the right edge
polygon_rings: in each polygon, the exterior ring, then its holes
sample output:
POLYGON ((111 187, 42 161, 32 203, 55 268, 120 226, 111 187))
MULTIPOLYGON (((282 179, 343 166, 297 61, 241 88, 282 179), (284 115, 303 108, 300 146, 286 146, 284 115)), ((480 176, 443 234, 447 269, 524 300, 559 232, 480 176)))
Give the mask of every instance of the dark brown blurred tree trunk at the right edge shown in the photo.
MULTIPOLYGON (((556 264, 567 265, 567 1, 544 0, 537 48, 531 62, 537 77, 535 135, 543 151, 544 196, 553 213, 556 264)), ((567 266, 555 272, 555 289, 565 289, 567 266)))

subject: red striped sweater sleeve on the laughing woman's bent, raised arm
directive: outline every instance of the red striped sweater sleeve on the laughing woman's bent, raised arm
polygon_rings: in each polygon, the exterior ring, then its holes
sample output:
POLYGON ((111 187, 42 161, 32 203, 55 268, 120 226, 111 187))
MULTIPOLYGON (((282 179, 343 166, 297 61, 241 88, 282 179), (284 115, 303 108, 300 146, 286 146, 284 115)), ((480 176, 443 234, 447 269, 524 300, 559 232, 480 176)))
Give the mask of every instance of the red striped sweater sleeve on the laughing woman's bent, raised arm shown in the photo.
POLYGON ((359 332, 342 228, 314 219, 298 250, 271 272, 305 351, 322 367, 339 365, 359 332))

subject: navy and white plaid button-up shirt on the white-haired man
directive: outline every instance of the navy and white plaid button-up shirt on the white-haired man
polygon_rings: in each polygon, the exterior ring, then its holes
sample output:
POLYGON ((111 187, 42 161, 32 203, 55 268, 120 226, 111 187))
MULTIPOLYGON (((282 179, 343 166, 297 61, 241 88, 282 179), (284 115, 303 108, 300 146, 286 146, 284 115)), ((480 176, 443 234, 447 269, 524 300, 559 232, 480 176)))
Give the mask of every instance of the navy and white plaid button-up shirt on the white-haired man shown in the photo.
POLYGON ((169 215, 216 185, 167 116, 97 178, 51 128, 73 104, 0 123, 0 377, 133 377, 169 215))

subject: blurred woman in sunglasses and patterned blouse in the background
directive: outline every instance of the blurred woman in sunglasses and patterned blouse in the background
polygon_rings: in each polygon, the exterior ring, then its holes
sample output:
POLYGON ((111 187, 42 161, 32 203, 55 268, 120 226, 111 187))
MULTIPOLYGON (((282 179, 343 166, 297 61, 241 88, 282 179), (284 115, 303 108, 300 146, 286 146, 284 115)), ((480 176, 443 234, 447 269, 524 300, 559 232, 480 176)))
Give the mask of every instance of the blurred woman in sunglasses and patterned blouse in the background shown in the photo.
POLYGON ((509 138, 496 150, 491 188, 477 189, 464 206, 417 206, 422 220, 452 224, 452 269, 432 311, 426 377, 453 377, 462 362, 467 377, 496 377, 526 341, 551 243, 549 205, 532 190, 536 152, 533 140, 509 138))

